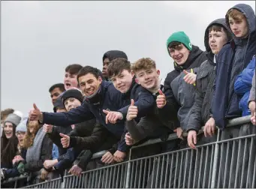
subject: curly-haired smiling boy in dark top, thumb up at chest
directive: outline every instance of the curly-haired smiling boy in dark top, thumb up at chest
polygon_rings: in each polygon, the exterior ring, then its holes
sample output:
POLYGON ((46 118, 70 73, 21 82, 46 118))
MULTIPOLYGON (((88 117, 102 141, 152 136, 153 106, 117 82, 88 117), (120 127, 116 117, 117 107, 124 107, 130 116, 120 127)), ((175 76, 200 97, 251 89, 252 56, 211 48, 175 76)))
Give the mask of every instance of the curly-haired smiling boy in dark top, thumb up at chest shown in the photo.
MULTIPOLYGON (((163 95, 161 89, 160 71, 156 68, 155 61, 151 58, 140 58, 131 66, 131 70, 136 76, 136 82, 148 90, 154 101, 158 95, 163 95)), ((137 120, 140 110, 135 106, 134 99, 131 99, 131 105, 126 115, 126 127, 128 133, 125 135, 127 145, 133 145, 142 139, 156 138, 167 139, 169 133, 173 133, 176 127, 170 124, 164 124, 158 111, 157 104, 154 103, 152 113, 137 120), (170 127, 171 126, 171 127, 170 127)))

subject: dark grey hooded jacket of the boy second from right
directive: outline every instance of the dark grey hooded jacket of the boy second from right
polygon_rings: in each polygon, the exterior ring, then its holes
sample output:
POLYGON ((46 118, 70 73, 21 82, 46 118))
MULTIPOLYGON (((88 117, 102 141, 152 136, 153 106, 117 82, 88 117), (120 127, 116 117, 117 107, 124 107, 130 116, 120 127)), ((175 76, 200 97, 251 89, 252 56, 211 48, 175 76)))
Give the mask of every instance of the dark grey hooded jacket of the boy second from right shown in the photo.
POLYGON ((231 40, 231 34, 229 28, 225 23, 225 19, 214 20, 207 26, 204 34, 204 45, 206 47, 208 60, 203 62, 197 72, 197 91, 194 98, 194 105, 191 108, 191 112, 188 115, 188 124, 185 131, 200 130, 202 125, 206 124, 206 121, 210 118, 210 106, 212 101, 212 89, 215 80, 215 62, 213 61, 214 55, 209 47, 209 27, 212 25, 218 25, 226 28, 227 40, 231 40))

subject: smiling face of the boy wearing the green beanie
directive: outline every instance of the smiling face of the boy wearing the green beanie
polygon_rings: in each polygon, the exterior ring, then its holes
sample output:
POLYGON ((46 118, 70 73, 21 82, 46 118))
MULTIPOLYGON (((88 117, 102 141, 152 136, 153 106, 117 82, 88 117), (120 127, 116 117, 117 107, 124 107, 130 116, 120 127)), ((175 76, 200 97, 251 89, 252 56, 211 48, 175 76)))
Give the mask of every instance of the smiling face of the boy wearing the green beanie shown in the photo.
POLYGON ((175 46, 168 47, 170 57, 173 58, 177 65, 184 65, 188 59, 189 50, 182 44, 179 43, 175 46))

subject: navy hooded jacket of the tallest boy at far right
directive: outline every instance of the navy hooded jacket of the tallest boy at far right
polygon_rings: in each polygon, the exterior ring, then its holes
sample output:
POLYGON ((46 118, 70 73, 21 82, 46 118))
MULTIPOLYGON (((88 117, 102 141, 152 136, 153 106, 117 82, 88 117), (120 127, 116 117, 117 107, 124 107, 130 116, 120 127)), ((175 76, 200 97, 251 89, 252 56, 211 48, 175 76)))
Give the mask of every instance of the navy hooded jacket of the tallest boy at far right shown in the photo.
MULTIPOLYGON (((251 61, 256 51, 255 13, 249 5, 239 4, 232 7, 241 11, 248 23, 248 37, 236 38, 227 43, 216 56, 216 78, 212 114, 215 124, 224 129, 227 119, 242 115, 239 110, 240 97, 234 92, 236 77, 251 61)), ((228 17, 226 24, 229 26, 228 17)))

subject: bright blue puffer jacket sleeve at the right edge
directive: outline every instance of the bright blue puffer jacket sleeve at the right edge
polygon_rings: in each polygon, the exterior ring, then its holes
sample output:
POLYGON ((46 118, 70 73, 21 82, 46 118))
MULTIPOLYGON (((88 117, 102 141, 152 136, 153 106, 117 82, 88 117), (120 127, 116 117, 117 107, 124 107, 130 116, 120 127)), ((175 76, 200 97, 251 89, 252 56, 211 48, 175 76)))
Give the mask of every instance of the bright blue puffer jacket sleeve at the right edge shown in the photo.
POLYGON ((248 66, 236 78, 236 83, 234 85, 236 94, 242 97, 241 101, 239 102, 239 109, 242 110, 242 116, 251 114, 251 111, 248 109, 248 98, 250 95, 254 71, 255 55, 248 66))

